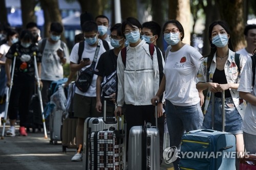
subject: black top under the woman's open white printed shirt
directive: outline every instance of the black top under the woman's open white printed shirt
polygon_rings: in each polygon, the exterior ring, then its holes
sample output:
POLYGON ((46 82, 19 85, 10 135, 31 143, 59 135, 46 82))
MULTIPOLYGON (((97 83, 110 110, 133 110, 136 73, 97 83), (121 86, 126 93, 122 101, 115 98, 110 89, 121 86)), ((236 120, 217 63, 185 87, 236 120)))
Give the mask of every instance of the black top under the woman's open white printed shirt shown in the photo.
MULTIPOLYGON (((227 84, 227 79, 225 75, 225 70, 218 70, 217 68, 215 69, 214 72, 214 77, 212 77, 212 82, 214 83, 219 83, 219 84, 227 84)), ((215 93, 215 96, 217 98, 221 98, 221 92, 215 93)), ((231 97, 231 93, 229 89, 225 90, 225 98, 231 97)))

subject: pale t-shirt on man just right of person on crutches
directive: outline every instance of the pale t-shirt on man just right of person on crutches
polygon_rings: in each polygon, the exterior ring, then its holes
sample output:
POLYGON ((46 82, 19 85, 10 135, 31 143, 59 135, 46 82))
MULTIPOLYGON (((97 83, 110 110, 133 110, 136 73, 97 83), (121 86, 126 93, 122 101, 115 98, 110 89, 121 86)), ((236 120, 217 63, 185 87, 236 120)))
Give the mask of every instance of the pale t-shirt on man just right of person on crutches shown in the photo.
MULTIPOLYGON (((42 42, 39 41, 39 44, 42 42)), ((50 43, 46 41, 46 46, 42 52, 41 62, 41 79, 56 81, 63 78, 63 66, 57 55, 57 50, 60 47, 60 40, 57 43, 50 43)), ((64 58, 69 57, 69 51, 67 45, 64 43, 64 58)))

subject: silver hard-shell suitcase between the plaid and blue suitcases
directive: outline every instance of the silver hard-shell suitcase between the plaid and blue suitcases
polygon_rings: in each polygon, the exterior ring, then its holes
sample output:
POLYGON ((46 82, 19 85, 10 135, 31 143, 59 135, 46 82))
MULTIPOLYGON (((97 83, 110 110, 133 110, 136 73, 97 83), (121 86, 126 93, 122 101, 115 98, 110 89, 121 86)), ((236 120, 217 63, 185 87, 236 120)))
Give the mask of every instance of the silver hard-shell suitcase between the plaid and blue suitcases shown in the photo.
MULTIPOLYGON (((157 117, 157 106, 155 116, 157 117)), ((157 127, 147 123, 146 126, 134 126, 131 128, 128 147, 128 169, 160 169, 160 137, 157 127)))

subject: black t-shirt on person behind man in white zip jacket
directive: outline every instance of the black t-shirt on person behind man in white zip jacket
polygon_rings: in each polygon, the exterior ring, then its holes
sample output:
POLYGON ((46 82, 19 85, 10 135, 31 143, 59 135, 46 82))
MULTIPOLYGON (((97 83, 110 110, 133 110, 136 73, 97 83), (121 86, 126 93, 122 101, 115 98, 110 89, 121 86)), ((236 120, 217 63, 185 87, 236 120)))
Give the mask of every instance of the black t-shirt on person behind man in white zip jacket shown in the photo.
POLYGON ((116 66, 117 56, 114 53, 114 49, 106 51, 101 54, 94 74, 102 78, 108 77, 116 70, 116 66))

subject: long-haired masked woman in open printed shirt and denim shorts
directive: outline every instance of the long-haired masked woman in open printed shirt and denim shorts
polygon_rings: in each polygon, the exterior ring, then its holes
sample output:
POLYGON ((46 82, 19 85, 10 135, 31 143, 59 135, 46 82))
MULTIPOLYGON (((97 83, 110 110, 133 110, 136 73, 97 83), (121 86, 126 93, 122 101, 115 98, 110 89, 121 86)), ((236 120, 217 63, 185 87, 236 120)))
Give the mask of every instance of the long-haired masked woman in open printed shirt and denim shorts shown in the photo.
MULTIPOLYGON (((204 57, 197 76, 197 88, 199 90, 208 89, 202 128, 211 129, 211 103, 214 102, 215 130, 222 130, 222 114, 219 113, 219 108, 222 107, 221 93, 225 91, 225 131, 236 135, 237 151, 243 152, 242 121, 246 102, 240 98, 237 89, 246 59, 239 55, 241 68, 239 72, 231 43, 231 32, 225 21, 212 22, 208 33, 211 51, 204 57), (215 95, 215 101, 212 101, 212 93, 215 95)), ((236 165, 238 168, 239 161, 236 161, 236 165)))

